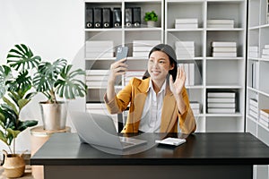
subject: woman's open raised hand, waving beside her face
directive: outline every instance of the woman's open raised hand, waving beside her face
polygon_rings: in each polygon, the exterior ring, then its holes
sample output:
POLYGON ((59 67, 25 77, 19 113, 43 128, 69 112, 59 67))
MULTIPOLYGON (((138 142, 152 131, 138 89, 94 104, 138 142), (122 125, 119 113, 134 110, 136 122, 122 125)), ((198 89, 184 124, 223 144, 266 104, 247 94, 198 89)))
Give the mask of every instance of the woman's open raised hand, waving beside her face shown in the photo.
POLYGON ((178 67, 178 73, 175 81, 173 81, 173 77, 172 75, 170 75, 169 87, 175 97, 181 95, 181 92, 185 86, 185 81, 186 81, 186 73, 184 71, 183 66, 178 67))

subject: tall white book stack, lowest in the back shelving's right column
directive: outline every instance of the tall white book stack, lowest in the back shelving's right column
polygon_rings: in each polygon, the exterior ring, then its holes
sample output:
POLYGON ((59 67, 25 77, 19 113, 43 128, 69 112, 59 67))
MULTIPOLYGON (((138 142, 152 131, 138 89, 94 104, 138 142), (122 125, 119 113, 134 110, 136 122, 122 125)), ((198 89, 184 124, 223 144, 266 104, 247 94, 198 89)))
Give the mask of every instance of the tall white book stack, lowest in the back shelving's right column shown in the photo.
POLYGON ((235 113, 236 93, 233 91, 207 92, 207 113, 235 113))

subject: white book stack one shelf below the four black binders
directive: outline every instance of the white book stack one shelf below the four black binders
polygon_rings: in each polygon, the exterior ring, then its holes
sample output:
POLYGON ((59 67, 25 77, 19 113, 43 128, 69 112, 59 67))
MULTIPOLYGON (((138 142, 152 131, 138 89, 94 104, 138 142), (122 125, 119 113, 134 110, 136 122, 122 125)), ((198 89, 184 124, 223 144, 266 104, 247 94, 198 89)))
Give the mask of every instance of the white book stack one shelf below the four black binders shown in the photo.
POLYGON ((97 40, 86 41, 86 58, 112 58, 114 55, 113 41, 97 40))

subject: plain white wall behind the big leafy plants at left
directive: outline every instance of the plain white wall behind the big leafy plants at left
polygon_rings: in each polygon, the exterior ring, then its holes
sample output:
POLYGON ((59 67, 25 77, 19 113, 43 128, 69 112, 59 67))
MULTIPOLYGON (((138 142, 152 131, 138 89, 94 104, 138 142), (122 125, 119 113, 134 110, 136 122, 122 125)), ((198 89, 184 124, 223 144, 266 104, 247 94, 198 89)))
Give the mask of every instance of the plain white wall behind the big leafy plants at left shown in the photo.
MULTIPOLYGON (((84 5, 83 0, 0 0, 0 64, 5 64, 7 52, 15 45, 28 45, 35 55, 53 61, 63 57, 76 66, 83 66, 84 5)), ((38 95, 22 112, 23 119, 38 119, 38 95)), ((84 107, 82 99, 79 105, 84 107)), ((77 103, 77 102, 73 102, 77 103)), ((72 103, 72 104, 73 104, 72 103)), ((67 124, 70 122, 67 122, 67 124)), ((30 150, 30 131, 22 132, 17 151, 30 150)), ((0 149, 6 149, 0 141, 0 149)))

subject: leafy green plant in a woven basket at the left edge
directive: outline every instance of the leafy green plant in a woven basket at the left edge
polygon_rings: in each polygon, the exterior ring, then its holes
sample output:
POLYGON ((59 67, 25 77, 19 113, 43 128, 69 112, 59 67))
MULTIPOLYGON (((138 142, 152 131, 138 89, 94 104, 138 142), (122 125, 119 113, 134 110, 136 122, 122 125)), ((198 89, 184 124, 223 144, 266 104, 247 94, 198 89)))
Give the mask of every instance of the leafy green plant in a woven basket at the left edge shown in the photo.
POLYGON ((29 47, 15 45, 7 55, 7 65, 0 66, 0 140, 10 150, 4 150, 4 173, 7 177, 24 174, 22 154, 16 154, 16 138, 28 127, 38 124, 36 120, 22 121, 20 114, 36 94, 32 91, 30 70, 37 68, 40 57, 32 54, 29 47), (13 144, 13 149, 11 145, 13 144))

